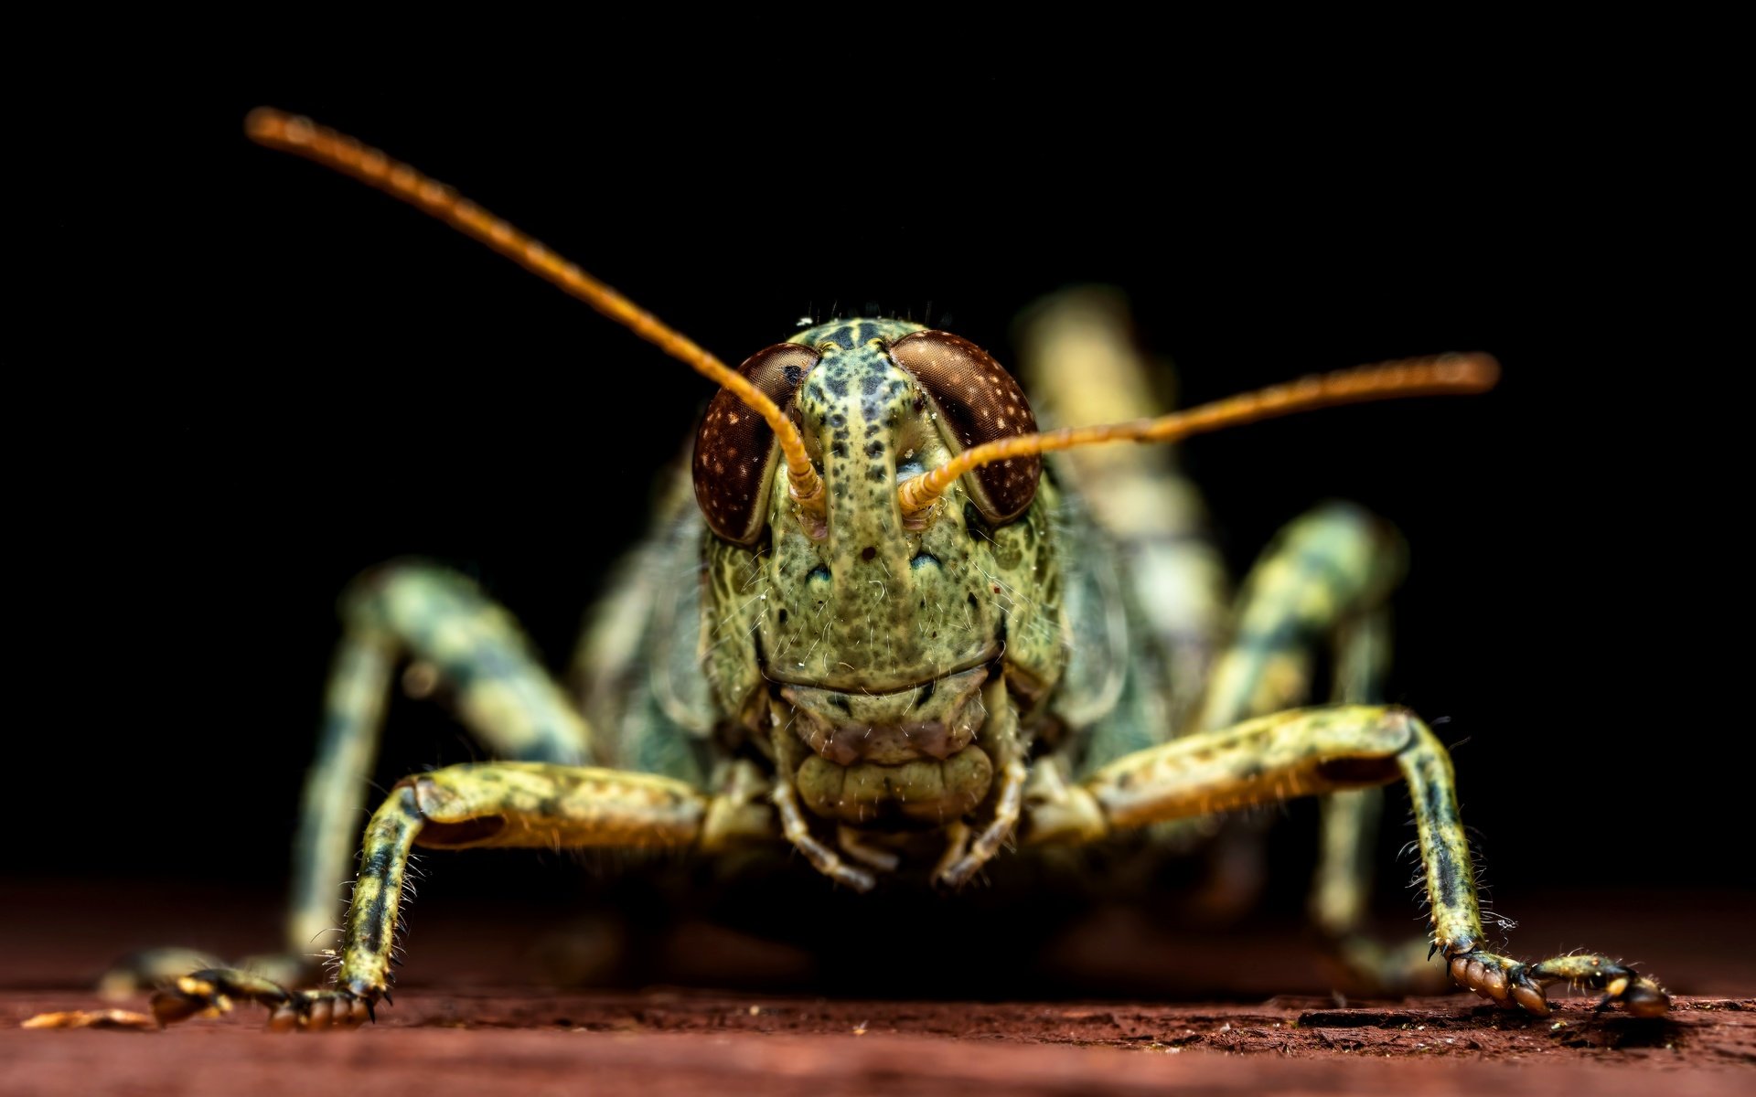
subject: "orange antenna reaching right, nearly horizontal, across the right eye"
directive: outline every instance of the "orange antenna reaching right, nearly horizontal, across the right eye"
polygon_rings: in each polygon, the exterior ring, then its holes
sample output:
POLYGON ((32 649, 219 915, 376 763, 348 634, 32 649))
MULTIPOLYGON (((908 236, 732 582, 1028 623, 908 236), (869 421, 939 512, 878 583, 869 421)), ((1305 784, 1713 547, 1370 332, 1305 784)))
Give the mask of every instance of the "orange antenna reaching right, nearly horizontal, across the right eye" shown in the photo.
POLYGON ((964 449, 938 469, 910 477, 897 488, 897 495, 903 505, 903 518, 915 518, 936 504, 964 472, 1015 456, 1034 456, 1055 449, 1073 449, 1075 446, 1096 446, 1098 442, 1177 442, 1192 434, 1241 427, 1259 419, 1273 419, 1275 416, 1331 407, 1335 404, 1479 393, 1493 388, 1498 379, 1500 363, 1491 355, 1442 355, 1436 358, 1405 358, 1382 365, 1363 365, 1305 377, 1289 384, 1275 384, 1254 393, 1227 397, 1155 419, 1108 423, 1105 427, 1068 427, 1045 434, 997 439, 964 449))

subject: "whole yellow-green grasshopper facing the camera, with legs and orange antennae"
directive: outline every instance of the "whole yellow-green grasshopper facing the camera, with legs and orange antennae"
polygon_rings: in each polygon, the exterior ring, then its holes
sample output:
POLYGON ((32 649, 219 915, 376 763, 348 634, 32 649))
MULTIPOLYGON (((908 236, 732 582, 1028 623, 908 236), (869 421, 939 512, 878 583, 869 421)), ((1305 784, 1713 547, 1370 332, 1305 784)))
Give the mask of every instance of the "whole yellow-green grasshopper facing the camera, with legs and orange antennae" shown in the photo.
POLYGON ((1524 962, 1486 946, 1447 751, 1414 713, 1373 704, 1394 534, 1354 507, 1313 511, 1227 607, 1212 549, 1189 537, 1199 504, 1159 460, 1166 442, 1270 416, 1482 391, 1498 369, 1486 355, 1147 414, 1138 377, 1105 349, 1115 325, 1071 309, 1043 321, 1033 388, 1075 423, 1143 418, 1040 432, 1018 381, 954 333, 834 319, 730 370, 376 149, 274 111, 248 130, 434 214, 722 388, 695 439, 692 498, 676 493, 594 618, 583 702, 469 579, 400 562, 353 584, 306 785, 290 951, 330 932, 330 885, 355 850, 399 667, 443 683, 504 760, 407 778, 371 814, 332 986, 286 988, 297 964, 179 972, 155 997, 162 1023, 239 999, 269 1006, 276 1029, 374 1016, 392 999, 416 846, 767 844, 855 892, 894 874, 957 888, 1010 846, 1157 834, 1301 795, 1326 797, 1317 920, 1391 978, 1394 960, 1359 936, 1359 848, 1375 792, 1398 779, 1419 834, 1428 960, 1535 1015, 1563 981, 1635 1015, 1668 1009, 1658 983, 1608 957, 1524 962), (1101 448, 1124 441, 1141 446, 1101 448), (1057 451, 1066 463, 1050 465, 1057 451), (1336 704, 1298 707, 1322 642, 1336 704))

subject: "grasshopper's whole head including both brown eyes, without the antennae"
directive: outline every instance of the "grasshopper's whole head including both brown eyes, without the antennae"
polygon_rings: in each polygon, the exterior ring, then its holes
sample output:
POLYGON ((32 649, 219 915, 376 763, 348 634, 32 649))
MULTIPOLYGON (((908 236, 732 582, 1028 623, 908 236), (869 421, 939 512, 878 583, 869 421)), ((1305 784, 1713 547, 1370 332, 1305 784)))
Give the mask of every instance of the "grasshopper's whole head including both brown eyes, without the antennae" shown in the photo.
POLYGON ((906 523, 897 483, 1033 432, 1029 405, 985 353, 903 321, 811 328, 741 372, 788 407, 827 507, 801 514, 766 425, 722 393, 695 453, 722 709, 759 742, 785 728, 776 764, 797 758, 801 799, 822 816, 959 818, 989 793, 978 741, 994 686, 1040 697, 1064 658, 1054 491, 1034 458, 999 463, 906 523))

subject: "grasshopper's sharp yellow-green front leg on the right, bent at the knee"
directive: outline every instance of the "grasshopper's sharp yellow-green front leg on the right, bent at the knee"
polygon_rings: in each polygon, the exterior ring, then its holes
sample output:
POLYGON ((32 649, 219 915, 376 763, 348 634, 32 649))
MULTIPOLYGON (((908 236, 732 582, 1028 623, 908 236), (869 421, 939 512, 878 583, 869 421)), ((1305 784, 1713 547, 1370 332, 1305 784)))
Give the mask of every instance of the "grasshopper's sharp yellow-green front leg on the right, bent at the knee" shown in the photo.
POLYGON ((1535 1015, 1549 1011, 1544 988, 1561 981, 1601 990, 1605 1002, 1621 1002, 1637 1016, 1670 1007, 1658 983, 1605 957, 1522 964, 1484 948, 1450 756, 1405 709, 1294 709, 1134 751, 1083 785, 1033 802, 1024 839, 1092 841, 1162 820, 1387 785, 1398 774, 1414 799, 1433 951, 1443 951, 1457 983, 1535 1015))

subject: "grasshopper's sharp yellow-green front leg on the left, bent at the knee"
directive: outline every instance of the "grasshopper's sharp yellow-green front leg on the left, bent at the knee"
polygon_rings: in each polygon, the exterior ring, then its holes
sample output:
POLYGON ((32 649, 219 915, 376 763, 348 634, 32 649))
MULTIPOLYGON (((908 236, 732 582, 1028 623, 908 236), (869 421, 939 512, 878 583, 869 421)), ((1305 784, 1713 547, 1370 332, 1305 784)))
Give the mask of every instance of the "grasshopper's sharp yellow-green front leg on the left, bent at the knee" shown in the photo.
POLYGON ((291 992, 269 979, 214 969, 179 979, 153 1000, 162 1023, 234 1000, 270 1009, 274 1029, 356 1025, 390 1000, 397 913, 414 846, 462 850, 667 848, 715 844, 711 818, 745 820, 745 804, 716 813, 716 799, 655 774, 546 762, 453 765, 404 778, 372 814, 348 907, 341 969, 327 990, 291 992))

